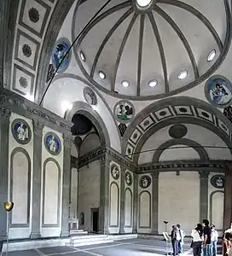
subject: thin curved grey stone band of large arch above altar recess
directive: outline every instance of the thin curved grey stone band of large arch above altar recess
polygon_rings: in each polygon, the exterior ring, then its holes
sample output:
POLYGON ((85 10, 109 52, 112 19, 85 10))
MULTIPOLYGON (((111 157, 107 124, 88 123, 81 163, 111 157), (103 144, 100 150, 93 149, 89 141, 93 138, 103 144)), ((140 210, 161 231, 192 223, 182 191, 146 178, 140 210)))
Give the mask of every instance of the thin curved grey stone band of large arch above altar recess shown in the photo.
MULTIPOLYGON (((108 104, 107 104, 107 101, 104 99, 104 96, 102 96, 102 94, 99 93, 99 91, 96 90, 96 88, 95 88, 92 84, 90 84, 88 81, 86 81, 86 80, 83 79, 82 77, 79 77, 79 76, 77 76, 77 75, 74 75, 73 73, 62 73, 62 74, 58 74, 58 75, 55 76, 55 79, 54 79, 53 81, 55 82, 55 81, 58 80, 58 79, 64 79, 64 78, 76 79, 76 80, 81 81, 82 83, 84 83, 84 84, 90 86, 90 89, 93 90, 93 91, 96 93, 96 95, 101 98, 102 102, 104 102, 105 106, 107 107, 107 110, 108 110, 108 112, 110 113, 110 115, 112 116, 113 121, 114 121, 114 124, 115 124, 115 126, 117 127, 118 135, 119 135, 119 137, 120 137, 120 132, 119 132, 119 128, 118 128, 117 121, 114 119, 114 117, 113 117, 113 112, 112 112, 111 108, 109 108, 109 106, 108 106, 108 104)), ((85 106, 86 106, 86 105, 85 105, 85 106)), ((88 109, 89 109, 89 108, 88 108, 88 109)))

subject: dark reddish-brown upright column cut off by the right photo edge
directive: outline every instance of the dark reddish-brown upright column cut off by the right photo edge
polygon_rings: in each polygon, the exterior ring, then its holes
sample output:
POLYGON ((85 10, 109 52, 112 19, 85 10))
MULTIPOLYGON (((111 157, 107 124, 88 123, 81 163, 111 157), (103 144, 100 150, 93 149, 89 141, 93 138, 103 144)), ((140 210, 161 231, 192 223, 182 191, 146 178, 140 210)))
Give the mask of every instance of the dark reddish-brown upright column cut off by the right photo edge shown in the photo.
POLYGON ((224 184, 224 212, 223 212, 223 229, 230 228, 232 223, 232 164, 228 164, 225 169, 224 184))

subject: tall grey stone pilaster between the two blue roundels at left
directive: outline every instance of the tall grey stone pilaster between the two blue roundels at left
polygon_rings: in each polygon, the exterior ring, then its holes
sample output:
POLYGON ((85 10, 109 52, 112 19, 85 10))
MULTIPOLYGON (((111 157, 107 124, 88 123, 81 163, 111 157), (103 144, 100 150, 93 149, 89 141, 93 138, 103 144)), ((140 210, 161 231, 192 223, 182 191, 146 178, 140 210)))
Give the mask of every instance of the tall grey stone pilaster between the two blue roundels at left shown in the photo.
POLYGON ((31 239, 41 236, 40 230, 40 202, 41 202, 41 173, 42 173, 42 145, 44 125, 33 120, 33 177, 32 177, 32 232, 31 239))

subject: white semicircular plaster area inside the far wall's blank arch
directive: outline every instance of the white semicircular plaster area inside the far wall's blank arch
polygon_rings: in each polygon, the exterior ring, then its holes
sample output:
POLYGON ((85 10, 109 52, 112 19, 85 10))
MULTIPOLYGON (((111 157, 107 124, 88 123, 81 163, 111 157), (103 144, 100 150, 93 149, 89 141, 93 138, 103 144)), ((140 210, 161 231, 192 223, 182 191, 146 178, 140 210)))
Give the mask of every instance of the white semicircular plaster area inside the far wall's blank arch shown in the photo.
POLYGON ((159 157, 159 161, 171 160, 200 160, 199 154, 194 148, 186 148, 185 145, 176 145, 166 149, 159 157), (183 148, 177 148, 183 147, 183 148))

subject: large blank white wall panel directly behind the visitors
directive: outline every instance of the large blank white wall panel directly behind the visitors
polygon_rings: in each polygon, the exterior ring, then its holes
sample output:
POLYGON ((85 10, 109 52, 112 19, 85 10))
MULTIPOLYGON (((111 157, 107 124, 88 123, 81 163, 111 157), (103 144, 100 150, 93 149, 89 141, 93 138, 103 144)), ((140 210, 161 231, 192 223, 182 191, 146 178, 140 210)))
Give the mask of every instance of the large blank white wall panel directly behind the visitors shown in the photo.
POLYGON ((198 172, 160 172, 159 173, 159 234, 165 231, 164 220, 171 225, 181 224, 187 236, 200 214, 200 177, 198 172))

